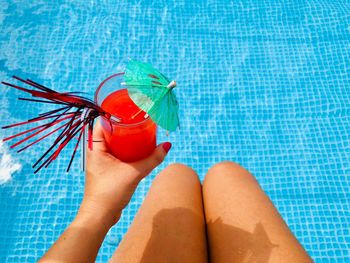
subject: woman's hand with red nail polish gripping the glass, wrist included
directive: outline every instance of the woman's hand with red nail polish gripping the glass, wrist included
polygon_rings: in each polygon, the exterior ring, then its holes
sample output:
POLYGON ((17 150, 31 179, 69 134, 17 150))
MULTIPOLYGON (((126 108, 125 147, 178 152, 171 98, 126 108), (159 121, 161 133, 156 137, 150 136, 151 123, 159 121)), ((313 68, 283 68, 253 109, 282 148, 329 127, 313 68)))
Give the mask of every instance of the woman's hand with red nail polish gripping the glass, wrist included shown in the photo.
POLYGON ((85 192, 78 216, 91 217, 111 227, 140 180, 164 160, 171 143, 158 145, 146 159, 124 163, 108 152, 100 123, 94 128, 94 141, 98 142, 94 142, 93 150, 87 150, 85 192))

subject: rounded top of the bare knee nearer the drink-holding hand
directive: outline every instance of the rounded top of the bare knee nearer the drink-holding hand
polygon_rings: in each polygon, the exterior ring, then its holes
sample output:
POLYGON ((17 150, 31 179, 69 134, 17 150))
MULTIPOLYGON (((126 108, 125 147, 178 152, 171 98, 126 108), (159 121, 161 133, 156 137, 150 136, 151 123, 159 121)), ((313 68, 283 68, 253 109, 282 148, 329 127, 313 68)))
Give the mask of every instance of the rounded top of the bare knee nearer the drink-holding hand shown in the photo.
POLYGON ((181 163, 173 163, 166 167, 156 176, 154 182, 157 183, 160 181, 168 181, 186 186, 200 186, 197 173, 191 167, 181 163))

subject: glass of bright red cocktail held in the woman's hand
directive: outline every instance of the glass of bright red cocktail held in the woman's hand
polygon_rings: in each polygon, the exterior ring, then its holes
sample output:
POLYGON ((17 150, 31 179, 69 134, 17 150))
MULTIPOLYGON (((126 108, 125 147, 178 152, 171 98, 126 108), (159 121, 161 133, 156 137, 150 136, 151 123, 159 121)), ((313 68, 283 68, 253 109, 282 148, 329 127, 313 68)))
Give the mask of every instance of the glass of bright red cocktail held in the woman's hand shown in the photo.
POLYGON ((156 147, 156 124, 140 111, 121 88, 122 75, 115 74, 101 83, 95 101, 106 112, 120 119, 101 118, 103 133, 110 152, 119 160, 134 162, 149 156, 156 147), (112 125, 111 125, 112 124, 112 125))

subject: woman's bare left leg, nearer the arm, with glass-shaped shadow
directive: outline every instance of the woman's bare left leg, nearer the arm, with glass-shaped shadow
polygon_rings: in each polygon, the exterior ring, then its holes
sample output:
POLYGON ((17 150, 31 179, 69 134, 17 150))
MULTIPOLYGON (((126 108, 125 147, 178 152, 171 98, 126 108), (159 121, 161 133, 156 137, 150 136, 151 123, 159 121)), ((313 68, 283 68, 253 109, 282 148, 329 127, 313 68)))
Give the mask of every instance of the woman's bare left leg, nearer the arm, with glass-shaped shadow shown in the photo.
POLYGON ((111 262, 207 262, 201 184, 173 164, 154 180, 111 262))

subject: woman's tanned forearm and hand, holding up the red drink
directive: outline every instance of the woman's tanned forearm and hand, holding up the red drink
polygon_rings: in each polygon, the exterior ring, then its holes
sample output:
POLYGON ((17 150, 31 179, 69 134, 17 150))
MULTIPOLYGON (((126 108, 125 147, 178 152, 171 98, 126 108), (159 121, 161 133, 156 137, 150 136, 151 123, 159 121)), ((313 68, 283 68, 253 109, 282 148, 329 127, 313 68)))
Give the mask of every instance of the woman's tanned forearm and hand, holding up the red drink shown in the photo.
POLYGON ((77 216, 40 262, 94 262, 140 180, 163 161, 171 147, 166 142, 144 160, 123 163, 108 153, 99 124, 94 140, 100 142, 87 152, 84 198, 77 216))

